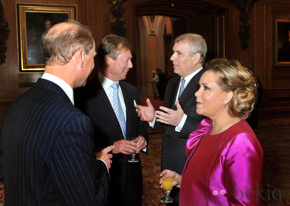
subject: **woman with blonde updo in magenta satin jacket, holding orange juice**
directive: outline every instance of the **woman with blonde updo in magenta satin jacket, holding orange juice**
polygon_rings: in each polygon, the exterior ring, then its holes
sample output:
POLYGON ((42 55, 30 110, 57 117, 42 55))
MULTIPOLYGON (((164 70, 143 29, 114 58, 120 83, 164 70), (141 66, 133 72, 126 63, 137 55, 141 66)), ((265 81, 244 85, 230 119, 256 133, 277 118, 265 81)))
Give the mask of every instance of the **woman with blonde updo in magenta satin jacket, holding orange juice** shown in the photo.
POLYGON ((196 112, 207 118, 190 134, 183 174, 172 183, 181 188, 179 205, 260 205, 263 151, 245 121, 256 100, 252 72, 217 58, 199 84, 196 112))

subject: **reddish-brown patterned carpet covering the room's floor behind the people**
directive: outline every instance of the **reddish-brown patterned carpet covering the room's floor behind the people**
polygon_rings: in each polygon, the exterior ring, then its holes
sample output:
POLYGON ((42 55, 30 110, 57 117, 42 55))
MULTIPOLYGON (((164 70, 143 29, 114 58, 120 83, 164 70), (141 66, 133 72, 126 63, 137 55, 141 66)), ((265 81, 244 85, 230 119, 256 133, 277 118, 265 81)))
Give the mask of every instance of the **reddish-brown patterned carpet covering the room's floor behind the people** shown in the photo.
MULTIPOLYGON (((258 127, 257 137, 264 151, 261 190, 262 206, 290 206, 290 123, 265 124, 258 127), (281 196, 281 198, 280 198, 281 196)), ((158 132, 157 132, 158 133, 158 132)), ((149 154, 141 154, 143 173, 143 206, 165 206, 159 189, 162 133, 149 135, 149 154)), ((0 184, 0 206, 4 186, 0 184)))

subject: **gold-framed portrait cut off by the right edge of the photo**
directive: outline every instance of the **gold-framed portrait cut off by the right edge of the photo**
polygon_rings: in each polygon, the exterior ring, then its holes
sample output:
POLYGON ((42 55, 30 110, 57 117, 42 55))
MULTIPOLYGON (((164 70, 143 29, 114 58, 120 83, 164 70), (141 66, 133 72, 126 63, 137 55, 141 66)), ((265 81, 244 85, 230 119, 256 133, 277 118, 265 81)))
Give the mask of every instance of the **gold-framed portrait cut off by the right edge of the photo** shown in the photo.
POLYGON ((274 65, 290 66, 290 17, 274 17, 274 65))

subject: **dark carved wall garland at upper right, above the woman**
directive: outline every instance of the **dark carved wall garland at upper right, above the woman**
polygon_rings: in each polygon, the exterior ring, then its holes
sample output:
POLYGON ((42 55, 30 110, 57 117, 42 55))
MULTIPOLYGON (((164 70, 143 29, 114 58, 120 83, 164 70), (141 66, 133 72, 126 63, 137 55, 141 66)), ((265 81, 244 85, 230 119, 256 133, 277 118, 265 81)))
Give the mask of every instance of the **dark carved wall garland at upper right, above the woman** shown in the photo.
POLYGON ((254 7, 254 4, 258 0, 228 0, 231 2, 241 13, 239 15, 239 20, 241 24, 239 25, 239 37, 241 40, 241 49, 246 50, 248 48, 248 40, 250 37, 250 25, 248 23, 248 20, 250 18, 249 12, 254 7))

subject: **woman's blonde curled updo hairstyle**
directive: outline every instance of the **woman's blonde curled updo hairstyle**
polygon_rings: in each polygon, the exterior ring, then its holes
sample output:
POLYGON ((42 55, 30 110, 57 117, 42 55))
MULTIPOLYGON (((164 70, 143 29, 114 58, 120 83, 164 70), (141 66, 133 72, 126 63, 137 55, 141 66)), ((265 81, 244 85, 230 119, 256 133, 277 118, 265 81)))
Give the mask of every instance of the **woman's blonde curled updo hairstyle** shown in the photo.
POLYGON ((257 97, 252 71, 237 60, 216 58, 205 64, 204 72, 216 74, 216 83, 224 92, 233 91, 233 97, 228 103, 229 115, 247 119, 257 97))

